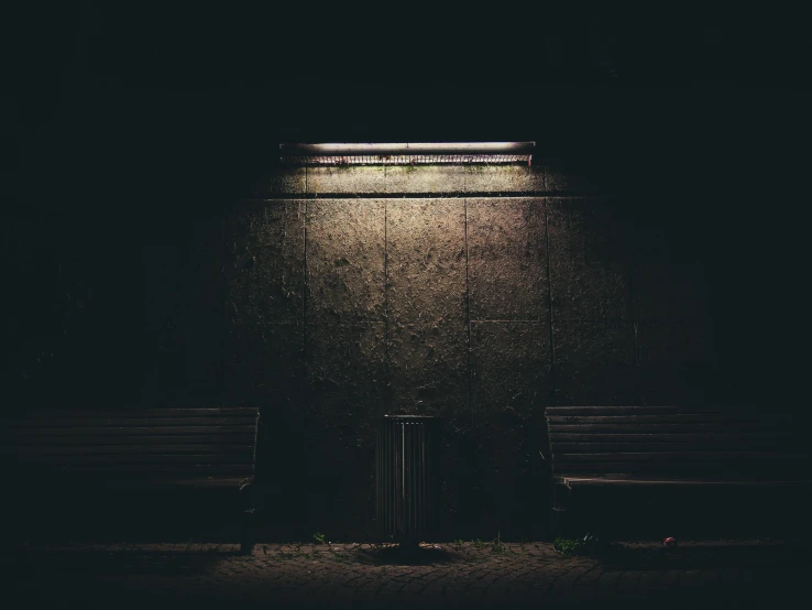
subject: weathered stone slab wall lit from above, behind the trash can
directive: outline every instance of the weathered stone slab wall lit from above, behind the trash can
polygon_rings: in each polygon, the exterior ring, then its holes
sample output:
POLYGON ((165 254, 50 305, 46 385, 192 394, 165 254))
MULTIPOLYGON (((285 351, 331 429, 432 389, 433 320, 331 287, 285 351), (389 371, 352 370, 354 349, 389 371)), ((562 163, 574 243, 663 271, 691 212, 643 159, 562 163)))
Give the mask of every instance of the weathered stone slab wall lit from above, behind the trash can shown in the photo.
POLYGON ((296 168, 230 205, 222 400, 262 409, 272 521, 364 538, 374 420, 434 414, 448 535, 530 536, 546 405, 701 404, 701 266, 630 209, 519 166, 296 168))

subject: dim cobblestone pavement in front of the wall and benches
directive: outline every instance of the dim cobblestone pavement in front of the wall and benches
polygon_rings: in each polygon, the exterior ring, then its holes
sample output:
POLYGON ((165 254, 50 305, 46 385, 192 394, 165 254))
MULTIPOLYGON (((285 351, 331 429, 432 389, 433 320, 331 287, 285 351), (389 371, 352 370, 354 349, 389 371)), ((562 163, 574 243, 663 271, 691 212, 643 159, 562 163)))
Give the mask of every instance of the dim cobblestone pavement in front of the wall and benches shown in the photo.
MULTIPOLYGON (((26 600, 62 608, 773 606, 802 590, 812 565, 801 545, 775 541, 613 545, 563 557, 551 544, 450 543, 403 555, 387 545, 23 545, 2 555, 26 600)), ((7 588, 8 590, 8 588, 7 588)))

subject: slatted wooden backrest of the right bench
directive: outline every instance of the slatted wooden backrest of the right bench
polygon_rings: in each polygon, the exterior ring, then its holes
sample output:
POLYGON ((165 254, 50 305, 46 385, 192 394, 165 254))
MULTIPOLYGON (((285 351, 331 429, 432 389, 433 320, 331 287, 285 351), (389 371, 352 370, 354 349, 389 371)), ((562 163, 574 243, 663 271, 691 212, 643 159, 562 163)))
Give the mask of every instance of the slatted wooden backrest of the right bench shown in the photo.
POLYGON ((809 478, 784 415, 674 406, 548 407, 556 478, 809 478))

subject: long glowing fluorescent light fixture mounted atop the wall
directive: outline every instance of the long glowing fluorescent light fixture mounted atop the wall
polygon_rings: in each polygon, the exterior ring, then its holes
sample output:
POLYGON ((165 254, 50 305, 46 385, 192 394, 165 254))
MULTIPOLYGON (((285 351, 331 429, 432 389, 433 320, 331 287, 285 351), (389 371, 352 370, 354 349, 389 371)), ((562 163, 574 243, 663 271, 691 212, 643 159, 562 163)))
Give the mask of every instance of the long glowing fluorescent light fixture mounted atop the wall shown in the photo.
POLYGON ((281 161, 295 165, 434 165, 527 163, 536 142, 408 144, 279 144, 281 161))

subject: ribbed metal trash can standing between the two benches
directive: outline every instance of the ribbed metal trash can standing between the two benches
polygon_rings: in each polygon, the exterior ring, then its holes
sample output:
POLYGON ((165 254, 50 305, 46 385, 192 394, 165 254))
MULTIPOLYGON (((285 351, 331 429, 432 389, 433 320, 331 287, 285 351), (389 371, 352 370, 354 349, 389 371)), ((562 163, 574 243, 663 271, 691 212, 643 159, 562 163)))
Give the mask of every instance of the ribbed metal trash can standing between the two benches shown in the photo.
POLYGON ((434 534, 432 453, 437 417, 385 415, 375 443, 375 524, 378 542, 417 546, 434 534))

